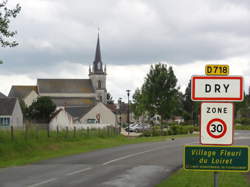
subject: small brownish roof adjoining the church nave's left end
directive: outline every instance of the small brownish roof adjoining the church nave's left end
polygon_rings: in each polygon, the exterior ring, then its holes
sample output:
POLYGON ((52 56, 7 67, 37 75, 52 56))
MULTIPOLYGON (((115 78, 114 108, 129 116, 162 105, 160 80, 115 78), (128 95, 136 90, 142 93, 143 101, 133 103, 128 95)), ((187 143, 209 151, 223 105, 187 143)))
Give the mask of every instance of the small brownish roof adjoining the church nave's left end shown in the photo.
POLYGON ((35 91, 37 93, 37 86, 12 86, 9 92, 8 97, 18 97, 25 98, 30 94, 31 91, 35 91))

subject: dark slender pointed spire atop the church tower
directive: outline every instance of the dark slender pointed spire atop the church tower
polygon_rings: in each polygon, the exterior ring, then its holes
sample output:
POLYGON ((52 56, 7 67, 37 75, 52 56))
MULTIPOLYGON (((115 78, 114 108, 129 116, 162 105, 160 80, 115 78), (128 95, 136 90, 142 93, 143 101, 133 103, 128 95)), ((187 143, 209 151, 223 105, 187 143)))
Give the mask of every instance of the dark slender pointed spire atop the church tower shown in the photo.
POLYGON ((95 60, 93 62, 93 73, 103 74, 103 65, 102 65, 102 56, 101 56, 101 47, 100 47, 100 39, 99 32, 97 36, 97 44, 95 51, 95 60))

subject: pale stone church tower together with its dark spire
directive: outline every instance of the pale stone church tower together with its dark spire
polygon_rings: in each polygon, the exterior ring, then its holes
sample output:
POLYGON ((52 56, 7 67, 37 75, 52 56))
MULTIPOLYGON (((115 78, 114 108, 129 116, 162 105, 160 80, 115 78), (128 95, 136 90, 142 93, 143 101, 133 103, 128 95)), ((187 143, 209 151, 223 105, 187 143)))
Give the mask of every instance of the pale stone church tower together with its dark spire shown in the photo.
POLYGON ((89 67, 89 78, 97 94, 97 100, 107 104, 107 89, 106 89, 106 65, 103 69, 99 33, 97 37, 95 60, 92 68, 89 67))

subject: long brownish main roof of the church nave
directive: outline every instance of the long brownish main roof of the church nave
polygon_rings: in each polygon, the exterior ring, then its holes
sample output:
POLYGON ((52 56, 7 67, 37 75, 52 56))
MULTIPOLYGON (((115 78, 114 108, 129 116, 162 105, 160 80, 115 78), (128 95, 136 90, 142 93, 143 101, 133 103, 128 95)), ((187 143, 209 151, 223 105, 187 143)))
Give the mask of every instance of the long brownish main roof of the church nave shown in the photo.
POLYGON ((94 93, 90 79, 37 79, 39 93, 94 93))

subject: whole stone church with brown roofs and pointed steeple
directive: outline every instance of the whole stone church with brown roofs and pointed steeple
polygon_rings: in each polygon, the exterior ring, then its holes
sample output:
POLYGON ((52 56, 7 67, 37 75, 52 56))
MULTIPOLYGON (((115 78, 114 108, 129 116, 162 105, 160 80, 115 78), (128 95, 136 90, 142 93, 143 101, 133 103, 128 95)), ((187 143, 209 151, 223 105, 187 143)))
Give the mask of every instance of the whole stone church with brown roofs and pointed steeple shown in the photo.
POLYGON ((59 108, 93 106, 99 102, 107 104, 106 76, 98 33, 89 79, 37 79, 36 85, 13 85, 8 96, 22 99, 27 106, 39 96, 49 96, 59 108))

